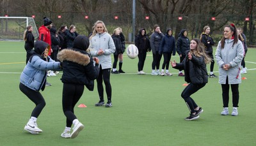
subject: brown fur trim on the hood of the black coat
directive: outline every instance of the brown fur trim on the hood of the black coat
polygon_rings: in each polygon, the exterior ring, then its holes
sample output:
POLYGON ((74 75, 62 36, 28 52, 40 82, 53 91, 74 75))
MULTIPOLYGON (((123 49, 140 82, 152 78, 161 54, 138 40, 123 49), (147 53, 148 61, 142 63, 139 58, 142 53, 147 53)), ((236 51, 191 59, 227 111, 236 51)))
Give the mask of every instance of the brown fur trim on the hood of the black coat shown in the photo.
POLYGON ((76 62, 77 64, 81 64, 83 66, 87 66, 90 63, 90 57, 87 54, 82 54, 81 52, 71 50, 71 49, 63 49, 58 53, 58 59, 63 61, 71 61, 76 62))

